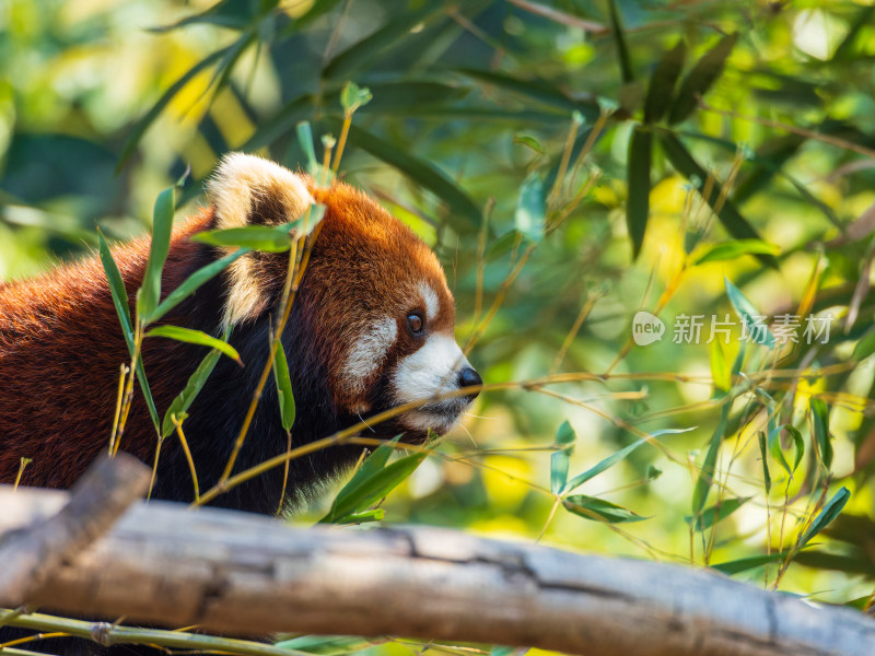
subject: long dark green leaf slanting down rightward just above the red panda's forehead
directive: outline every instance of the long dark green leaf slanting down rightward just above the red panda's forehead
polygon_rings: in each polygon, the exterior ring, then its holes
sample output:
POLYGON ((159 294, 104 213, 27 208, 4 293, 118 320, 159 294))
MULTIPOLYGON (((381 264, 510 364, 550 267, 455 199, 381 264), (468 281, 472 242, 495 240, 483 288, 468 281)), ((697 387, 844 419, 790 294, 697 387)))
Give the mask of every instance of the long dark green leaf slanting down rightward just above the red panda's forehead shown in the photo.
MULTIPOLYGON (((339 125, 338 125, 339 127, 339 125)), ((480 226, 480 209, 444 172, 424 160, 419 160, 397 145, 350 126, 349 143, 389 164, 428 189, 450 208, 450 223, 464 233, 474 233, 480 226)))

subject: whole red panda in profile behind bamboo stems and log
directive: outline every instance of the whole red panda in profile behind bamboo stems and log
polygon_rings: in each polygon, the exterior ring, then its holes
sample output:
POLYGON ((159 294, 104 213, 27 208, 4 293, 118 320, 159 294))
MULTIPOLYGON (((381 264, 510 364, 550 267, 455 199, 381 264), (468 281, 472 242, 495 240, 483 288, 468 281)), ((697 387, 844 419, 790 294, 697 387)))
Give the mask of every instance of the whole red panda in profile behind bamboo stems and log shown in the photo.
MULTIPOLYGON (((282 335, 295 394, 294 445, 325 437, 412 400, 481 384, 453 337, 454 301, 438 258, 416 234, 343 183, 317 188, 267 160, 228 155, 207 184, 209 207, 174 230, 162 290, 225 255, 194 242, 205 230, 280 224, 315 199, 326 207, 310 263, 282 335)), ((141 238, 113 250, 129 297, 149 254, 141 238)), ((249 253, 176 306, 162 323, 221 335, 241 354, 222 358, 188 411, 185 431, 201 489, 229 459, 278 312, 289 254, 249 253)), ((132 303, 131 303, 132 311, 132 303)), ((203 347, 148 338, 143 364, 159 412, 182 390, 203 347)), ((108 445, 119 365, 129 360, 97 257, 0 286, 0 483, 20 459, 22 484, 68 488, 108 445)), ((271 385, 272 383, 269 383, 271 385)), ((446 432, 476 395, 433 402, 372 427, 369 435, 421 441, 446 432)), ((142 395, 120 448, 151 464, 156 435, 142 395)), ((236 461, 249 468, 287 449, 276 395, 265 394, 236 461)), ((300 497, 337 475, 361 447, 336 446, 291 461, 289 494, 300 497)), ((191 501, 178 441, 162 446, 152 496, 191 501)), ((220 495, 214 504, 272 513, 283 489, 276 468, 220 495)))

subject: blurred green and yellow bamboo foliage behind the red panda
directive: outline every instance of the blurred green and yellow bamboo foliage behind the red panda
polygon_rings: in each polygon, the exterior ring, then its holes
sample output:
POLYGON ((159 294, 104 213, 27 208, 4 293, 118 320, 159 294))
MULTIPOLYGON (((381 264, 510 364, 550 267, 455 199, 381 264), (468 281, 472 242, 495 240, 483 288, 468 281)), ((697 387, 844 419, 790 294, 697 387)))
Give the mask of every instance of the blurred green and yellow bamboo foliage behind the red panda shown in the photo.
MULTIPOLYGON (((385 520, 718 563, 830 602, 872 593, 872 5, 2 12, 0 279, 88 253, 95 221, 113 237, 144 232, 188 165, 194 207, 230 150, 305 167, 302 120, 320 160, 352 81, 373 99, 341 174, 434 246, 483 379, 570 374, 481 395, 385 520), (662 319, 662 339, 632 341, 639 311, 662 319), (809 316, 827 340, 806 337, 809 316), (696 317, 699 339, 678 339, 696 317), (569 496, 569 477, 605 459, 569 496)), ((299 519, 337 513, 332 499, 299 519)))

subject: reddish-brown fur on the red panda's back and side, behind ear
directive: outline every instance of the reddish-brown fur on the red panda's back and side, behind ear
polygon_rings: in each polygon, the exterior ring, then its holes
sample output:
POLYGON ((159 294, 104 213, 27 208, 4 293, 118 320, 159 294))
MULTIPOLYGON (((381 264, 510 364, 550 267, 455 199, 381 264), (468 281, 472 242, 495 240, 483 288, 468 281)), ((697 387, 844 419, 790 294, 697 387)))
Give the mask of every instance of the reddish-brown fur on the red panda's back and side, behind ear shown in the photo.
MULTIPOLYGON (((205 211, 174 231, 165 290, 184 280, 187 259, 199 248, 188 236, 211 221, 211 212, 205 211)), ((149 257, 149 238, 114 248, 113 257, 132 300, 149 257)), ((167 340, 148 340, 145 358, 160 362, 171 349, 167 340)), ((96 255, 0 288, 0 482, 14 480, 21 458, 30 457, 23 484, 70 487, 108 447, 119 366, 129 361, 96 255)), ((159 408, 178 394, 185 375, 159 367, 150 376, 159 408)), ((154 429, 138 394, 125 450, 149 461, 154 445, 154 429)))

